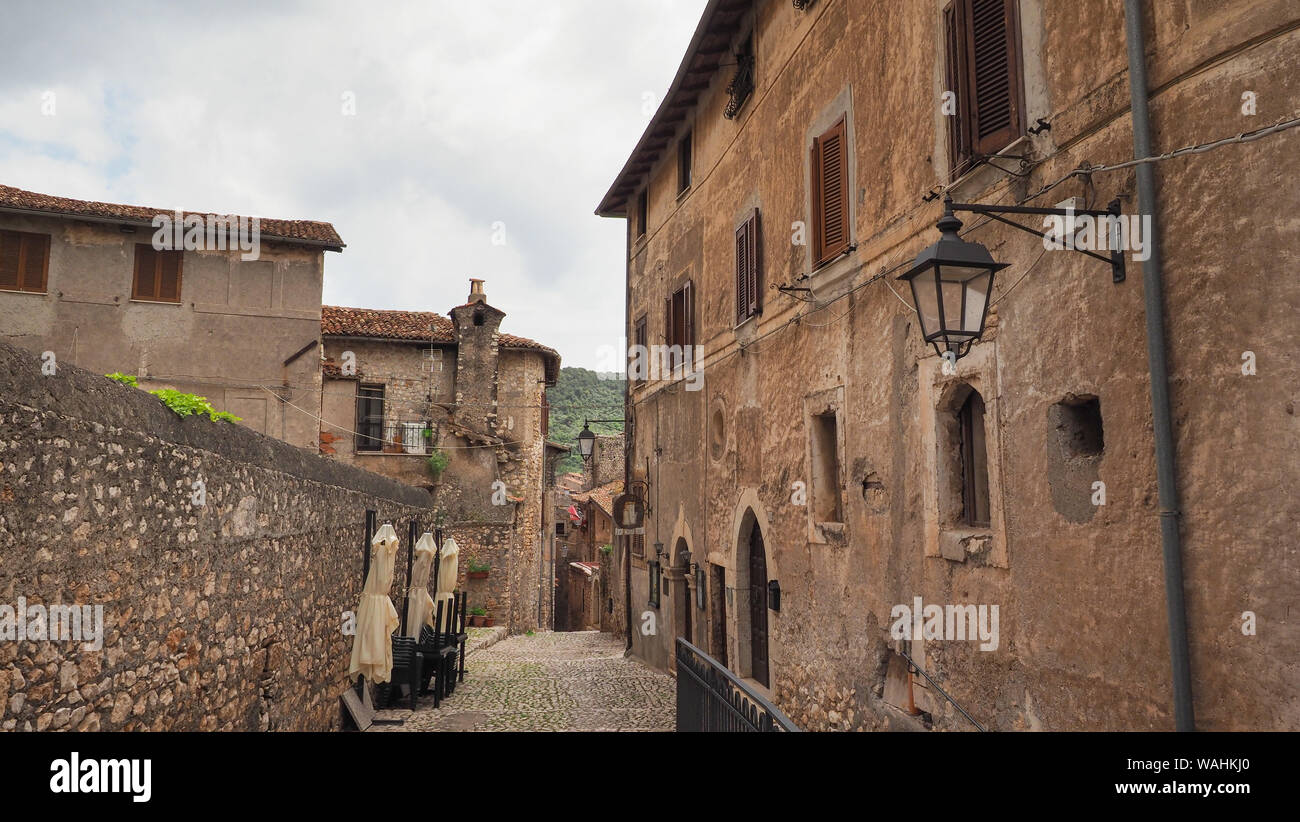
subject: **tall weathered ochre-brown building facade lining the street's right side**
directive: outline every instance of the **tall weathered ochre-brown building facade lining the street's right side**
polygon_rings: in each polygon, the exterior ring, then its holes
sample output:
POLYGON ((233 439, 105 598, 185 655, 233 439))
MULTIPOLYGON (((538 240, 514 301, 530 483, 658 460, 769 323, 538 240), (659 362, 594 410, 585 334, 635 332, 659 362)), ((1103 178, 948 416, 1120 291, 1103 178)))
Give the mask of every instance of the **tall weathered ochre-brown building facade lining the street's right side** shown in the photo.
MULTIPOLYGON (((628 222, 628 339, 699 346, 629 375, 627 472, 650 506, 632 616, 658 624, 633 653, 668 669, 686 636, 805 728, 968 728, 900 650, 988 727, 1171 728, 1140 254, 1113 284, 959 215, 1010 267, 954 365, 892 282, 937 239, 941 192, 1149 208, 1132 168, 1070 176, 1134 156, 1122 4, 798 5, 707 4, 598 207, 628 222), (1001 60, 982 126, 975 36, 1001 60), (896 637, 916 597, 998 606, 996 648, 896 637)), ((1294 116, 1296 4, 1144 7, 1156 152, 1294 116)), ((1297 134, 1154 165, 1182 496, 1164 514, 1206 730, 1300 728, 1300 498, 1277 492, 1300 483, 1300 364, 1279 355, 1300 281, 1275 276, 1297 134)))

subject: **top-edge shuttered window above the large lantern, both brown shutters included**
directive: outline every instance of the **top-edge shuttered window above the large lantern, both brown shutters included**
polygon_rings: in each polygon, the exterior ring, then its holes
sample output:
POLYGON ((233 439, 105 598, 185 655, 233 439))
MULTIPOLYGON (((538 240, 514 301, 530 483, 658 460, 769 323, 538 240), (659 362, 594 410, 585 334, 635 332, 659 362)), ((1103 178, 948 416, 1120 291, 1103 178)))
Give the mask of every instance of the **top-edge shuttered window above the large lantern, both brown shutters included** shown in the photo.
POLYGON ((945 79, 957 95, 949 121, 950 177, 1023 134, 1015 0, 953 0, 944 9, 945 79))

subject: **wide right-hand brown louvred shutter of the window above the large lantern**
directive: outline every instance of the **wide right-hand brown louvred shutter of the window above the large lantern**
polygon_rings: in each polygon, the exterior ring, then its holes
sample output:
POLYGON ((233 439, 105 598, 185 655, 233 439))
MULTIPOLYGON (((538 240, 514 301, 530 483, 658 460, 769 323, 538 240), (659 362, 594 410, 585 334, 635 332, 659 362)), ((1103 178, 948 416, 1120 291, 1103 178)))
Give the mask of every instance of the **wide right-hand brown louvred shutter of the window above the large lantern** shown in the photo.
POLYGON ((991 155, 1020 135, 1020 56, 1015 0, 961 0, 965 74, 970 91, 968 139, 991 155))

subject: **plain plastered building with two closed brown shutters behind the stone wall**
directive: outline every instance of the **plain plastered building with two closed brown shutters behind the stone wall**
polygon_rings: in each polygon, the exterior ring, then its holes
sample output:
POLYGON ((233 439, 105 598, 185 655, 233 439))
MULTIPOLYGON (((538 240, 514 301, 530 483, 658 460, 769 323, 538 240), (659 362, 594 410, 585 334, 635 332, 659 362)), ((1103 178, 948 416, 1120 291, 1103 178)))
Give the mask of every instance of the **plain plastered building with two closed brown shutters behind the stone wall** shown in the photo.
POLYGON ((260 220, 257 256, 244 259, 238 230, 209 235, 216 216, 200 212, 183 212, 204 228, 200 248, 155 252, 160 216, 176 212, 0 186, 0 337, 207 397, 315 450, 325 251, 343 248, 334 226, 260 220))

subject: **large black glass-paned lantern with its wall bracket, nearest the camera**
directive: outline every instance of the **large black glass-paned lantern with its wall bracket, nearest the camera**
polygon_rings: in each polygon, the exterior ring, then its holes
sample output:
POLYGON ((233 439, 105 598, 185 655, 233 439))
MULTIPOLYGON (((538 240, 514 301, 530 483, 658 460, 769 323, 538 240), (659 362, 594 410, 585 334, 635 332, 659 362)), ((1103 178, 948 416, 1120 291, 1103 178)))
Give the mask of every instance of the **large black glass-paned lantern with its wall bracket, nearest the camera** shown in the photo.
MULTIPOLYGON (((954 203, 952 198, 945 198, 944 216, 935 224, 941 232, 939 242, 918 254, 911 268, 900 274, 898 280, 906 280, 911 285, 913 303, 916 306, 916 316, 920 317, 920 336, 940 356, 952 351, 953 360, 966 356, 971 345, 984 336, 989 298, 993 294, 993 273, 1009 265, 994 261, 993 255, 980 243, 967 242, 957 234, 962 228, 962 221, 956 215, 958 211, 985 215, 989 220, 1005 222, 1044 239, 1048 239, 1048 235, 1043 232, 1008 220, 1002 215, 1091 217, 1102 221, 1108 229, 1114 228, 1121 220, 1118 199, 1112 200, 1105 211, 1100 211, 984 206, 954 203)), ((1112 282, 1124 281, 1124 255, 1118 245, 1110 247, 1106 256, 1084 248, 1070 247, 1070 250, 1109 263, 1112 282)))

